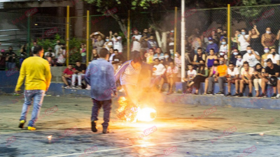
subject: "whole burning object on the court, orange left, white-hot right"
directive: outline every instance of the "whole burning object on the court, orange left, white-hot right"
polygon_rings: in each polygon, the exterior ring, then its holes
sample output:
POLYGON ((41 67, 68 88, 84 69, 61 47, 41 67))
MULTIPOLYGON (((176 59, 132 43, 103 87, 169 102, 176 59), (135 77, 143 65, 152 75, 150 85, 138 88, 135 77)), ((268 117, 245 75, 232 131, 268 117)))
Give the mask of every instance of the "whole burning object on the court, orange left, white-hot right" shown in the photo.
POLYGON ((118 100, 120 107, 118 108, 118 118, 125 121, 153 121, 157 117, 157 111, 150 107, 141 109, 136 105, 128 105, 125 97, 118 100))

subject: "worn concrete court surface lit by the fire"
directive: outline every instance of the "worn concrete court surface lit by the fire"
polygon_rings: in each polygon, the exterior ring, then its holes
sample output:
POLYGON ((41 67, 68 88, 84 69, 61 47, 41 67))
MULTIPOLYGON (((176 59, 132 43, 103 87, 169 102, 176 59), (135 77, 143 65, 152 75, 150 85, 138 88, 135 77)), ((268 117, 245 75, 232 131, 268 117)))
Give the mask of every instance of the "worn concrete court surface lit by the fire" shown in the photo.
MULTIPOLYGON (((36 131, 27 130, 27 124, 23 130, 18 128, 22 103, 20 96, 0 96, 1 157, 280 156, 279 110, 216 106, 216 112, 192 122, 190 120, 200 117, 212 106, 158 103, 155 106, 158 117, 154 121, 128 123, 113 120, 118 107, 114 98, 111 132, 103 134, 102 110, 99 131, 92 133, 90 130, 90 98, 45 96, 41 115, 55 105, 58 110, 39 119, 36 131), (153 133, 132 143, 131 139, 153 126, 156 127, 153 133), (64 135, 64 131, 73 127, 77 128, 76 131, 64 135), (236 130, 223 134, 225 129, 232 127, 236 130), (53 142, 48 140, 49 135, 53 139, 62 138, 53 142), (91 149, 93 147, 95 149, 91 149), (248 151, 252 147, 255 149, 248 151)), ((30 117, 31 112, 27 120, 30 117)))

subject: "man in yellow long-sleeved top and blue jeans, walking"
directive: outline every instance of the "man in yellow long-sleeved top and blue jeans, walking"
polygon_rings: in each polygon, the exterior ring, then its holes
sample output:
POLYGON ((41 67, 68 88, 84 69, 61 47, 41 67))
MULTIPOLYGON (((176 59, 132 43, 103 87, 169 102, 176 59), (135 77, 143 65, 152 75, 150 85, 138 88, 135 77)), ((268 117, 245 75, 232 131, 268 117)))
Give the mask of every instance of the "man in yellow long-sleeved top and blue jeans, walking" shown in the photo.
POLYGON ((36 45, 33 52, 34 57, 25 59, 20 68, 20 76, 18 77, 18 84, 15 87, 15 93, 20 94, 20 87, 25 80, 25 103, 22 107, 19 128, 23 128, 26 122, 27 112, 33 100, 33 110, 31 120, 28 124, 28 130, 36 130, 34 128, 35 121, 38 119, 45 91, 48 91, 48 87, 50 87, 52 75, 48 61, 42 58, 43 52, 43 47, 36 45))

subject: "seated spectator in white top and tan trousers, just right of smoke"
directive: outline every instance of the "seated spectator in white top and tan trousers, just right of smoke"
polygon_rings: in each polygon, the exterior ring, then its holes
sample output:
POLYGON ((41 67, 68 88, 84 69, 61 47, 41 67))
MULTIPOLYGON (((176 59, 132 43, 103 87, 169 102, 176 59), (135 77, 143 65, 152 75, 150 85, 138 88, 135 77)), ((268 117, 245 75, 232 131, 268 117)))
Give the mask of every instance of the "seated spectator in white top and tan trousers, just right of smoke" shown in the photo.
POLYGON ((163 78, 162 75, 165 74, 165 66, 162 65, 162 63, 160 63, 160 59, 155 59, 154 60, 155 65, 153 66, 154 68, 156 68, 153 71, 153 85, 158 86, 158 91, 161 92, 162 91, 162 84, 163 82, 163 78))

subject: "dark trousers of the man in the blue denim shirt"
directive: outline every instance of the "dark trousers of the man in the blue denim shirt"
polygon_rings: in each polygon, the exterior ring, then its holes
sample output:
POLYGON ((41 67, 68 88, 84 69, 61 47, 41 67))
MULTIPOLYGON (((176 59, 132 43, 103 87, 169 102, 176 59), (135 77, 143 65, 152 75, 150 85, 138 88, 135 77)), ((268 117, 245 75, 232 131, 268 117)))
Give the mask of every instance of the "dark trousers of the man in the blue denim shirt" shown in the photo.
POLYGON ((103 100, 103 101, 99 101, 99 100, 95 100, 94 98, 92 98, 92 117, 91 117, 91 121, 97 121, 98 120, 98 114, 99 114, 99 110, 103 105, 103 111, 104 111, 104 116, 103 116, 103 120, 104 123, 102 124, 103 128, 108 128, 109 126, 109 120, 110 120, 110 114, 111 114, 111 105, 112 105, 112 100, 103 100))

